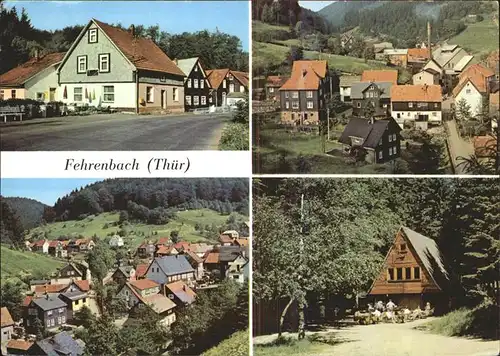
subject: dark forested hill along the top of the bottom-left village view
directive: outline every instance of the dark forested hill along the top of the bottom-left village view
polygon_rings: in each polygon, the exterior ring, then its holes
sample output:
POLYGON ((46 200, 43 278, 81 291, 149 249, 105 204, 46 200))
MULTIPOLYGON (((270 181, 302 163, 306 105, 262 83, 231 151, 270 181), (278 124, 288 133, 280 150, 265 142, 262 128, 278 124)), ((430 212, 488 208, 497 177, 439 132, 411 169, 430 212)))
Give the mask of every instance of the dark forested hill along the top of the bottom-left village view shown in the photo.
POLYGON ((126 211, 131 221, 165 224, 177 209, 248 215, 246 179, 112 179, 91 184, 46 208, 46 222, 126 211))

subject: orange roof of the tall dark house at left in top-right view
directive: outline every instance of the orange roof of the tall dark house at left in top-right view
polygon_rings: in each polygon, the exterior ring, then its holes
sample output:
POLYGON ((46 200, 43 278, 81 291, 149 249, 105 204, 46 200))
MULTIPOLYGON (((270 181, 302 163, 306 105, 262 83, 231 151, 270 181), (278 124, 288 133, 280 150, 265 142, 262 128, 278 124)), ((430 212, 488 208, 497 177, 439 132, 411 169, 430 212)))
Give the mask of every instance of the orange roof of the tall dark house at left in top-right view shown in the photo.
POLYGON ((327 72, 326 61, 295 61, 292 75, 280 90, 317 90, 327 72))

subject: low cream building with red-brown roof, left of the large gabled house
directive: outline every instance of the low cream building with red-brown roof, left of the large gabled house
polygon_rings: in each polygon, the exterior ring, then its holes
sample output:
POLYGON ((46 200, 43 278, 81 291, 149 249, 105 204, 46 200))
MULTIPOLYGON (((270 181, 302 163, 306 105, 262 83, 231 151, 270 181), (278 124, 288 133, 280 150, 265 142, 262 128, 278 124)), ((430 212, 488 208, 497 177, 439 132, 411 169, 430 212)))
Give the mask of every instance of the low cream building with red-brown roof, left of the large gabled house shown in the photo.
POLYGON ((0 75, 0 100, 59 100, 57 68, 63 57, 64 53, 40 55, 37 51, 28 62, 0 75))

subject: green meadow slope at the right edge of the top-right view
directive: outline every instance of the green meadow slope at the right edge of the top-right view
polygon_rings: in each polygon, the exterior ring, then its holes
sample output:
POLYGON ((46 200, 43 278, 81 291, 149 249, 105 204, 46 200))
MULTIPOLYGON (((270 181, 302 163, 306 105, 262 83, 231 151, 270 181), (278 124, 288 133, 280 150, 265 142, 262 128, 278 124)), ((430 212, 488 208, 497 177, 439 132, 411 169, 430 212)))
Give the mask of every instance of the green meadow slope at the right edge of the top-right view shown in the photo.
POLYGON ((489 53, 498 49, 498 26, 491 16, 485 16, 483 21, 469 24, 448 43, 460 45, 475 55, 489 53))

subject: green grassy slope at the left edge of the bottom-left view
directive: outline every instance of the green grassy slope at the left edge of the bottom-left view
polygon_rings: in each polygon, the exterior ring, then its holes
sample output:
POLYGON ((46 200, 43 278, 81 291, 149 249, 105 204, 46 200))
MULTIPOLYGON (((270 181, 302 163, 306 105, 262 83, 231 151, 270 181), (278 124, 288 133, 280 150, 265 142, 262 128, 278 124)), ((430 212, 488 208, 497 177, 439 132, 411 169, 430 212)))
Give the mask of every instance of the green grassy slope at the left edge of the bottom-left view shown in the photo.
POLYGON ((6 246, 0 246, 0 249, 2 280, 20 273, 49 274, 63 264, 56 259, 38 253, 11 250, 6 246))

